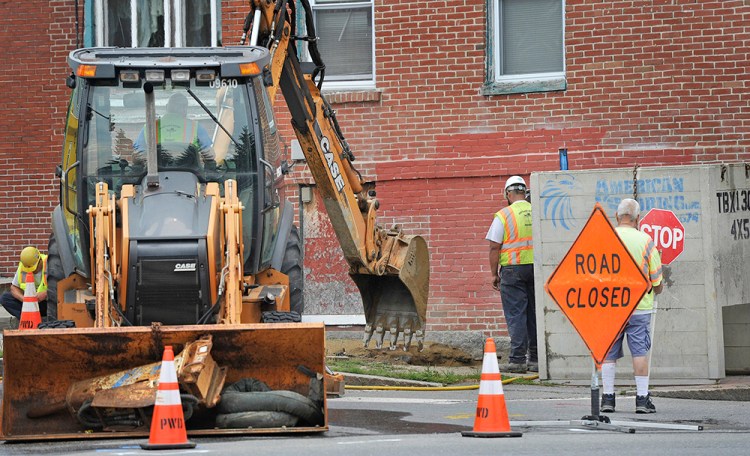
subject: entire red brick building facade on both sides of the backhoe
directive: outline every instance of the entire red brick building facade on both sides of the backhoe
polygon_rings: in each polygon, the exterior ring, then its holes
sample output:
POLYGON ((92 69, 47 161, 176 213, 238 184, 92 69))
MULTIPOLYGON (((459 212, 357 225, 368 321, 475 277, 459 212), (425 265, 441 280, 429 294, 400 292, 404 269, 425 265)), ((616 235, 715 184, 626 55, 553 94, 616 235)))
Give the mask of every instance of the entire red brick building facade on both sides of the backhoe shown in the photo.
MULTIPOLYGON (((46 246, 49 235, 66 57, 83 21, 75 3, 0 6, 2 276, 24 245, 46 246)), ((221 3, 224 42, 234 44, 246 2, 221 3)), ((375 89, 328 96, 377 190, 381 224, 428 241, 428 332, 506 335, 484 236, 507 176, 558 169, 563 147, 570 169, 750 161, 746 1, 565 1, 563 85, 506 91, 488 84, 497 0, 413 5, 374 2, 375 89)), ((283 109, 278 120, 288 125, 283 109)), ((283 137, 292 140, 288 128, 283 137)), ((293 176, 293 195, 311 184, 304 169, 293 176)), ((308 308, 357 313, 322 206, 304 206, 308 308)))

